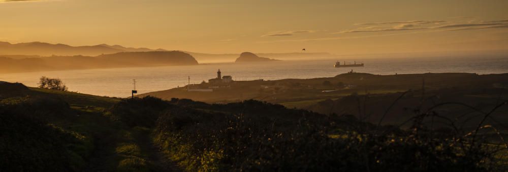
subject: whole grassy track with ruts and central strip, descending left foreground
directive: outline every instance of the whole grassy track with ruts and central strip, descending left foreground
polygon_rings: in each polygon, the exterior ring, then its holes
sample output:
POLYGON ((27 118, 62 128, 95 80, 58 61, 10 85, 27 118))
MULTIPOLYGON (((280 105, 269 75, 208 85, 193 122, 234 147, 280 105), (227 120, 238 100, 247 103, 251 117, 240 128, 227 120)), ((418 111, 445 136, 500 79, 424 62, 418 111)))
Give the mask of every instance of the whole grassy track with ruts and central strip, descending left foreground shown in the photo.
POLYGON ((51 119, 52 125, 89 137, 91 149, 83 171, 180 171, 153 144, 150 129, 129 127, 105 115, 119 98, 29 88, 30 97, 52 97, 69 104, 76 117, 51 119), (176 170, 175 170, 176 169, 176 170))

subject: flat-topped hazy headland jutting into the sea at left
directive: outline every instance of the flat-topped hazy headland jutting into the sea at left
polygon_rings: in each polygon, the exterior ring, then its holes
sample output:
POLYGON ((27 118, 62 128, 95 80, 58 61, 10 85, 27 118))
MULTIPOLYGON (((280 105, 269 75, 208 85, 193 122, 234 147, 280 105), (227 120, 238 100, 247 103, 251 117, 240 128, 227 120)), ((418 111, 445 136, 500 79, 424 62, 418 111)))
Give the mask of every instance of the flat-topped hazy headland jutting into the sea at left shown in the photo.
POLYGON ((82 55, 21 59, 0 57, 0 73, 196 64, 198 61, 193 56, 181 51, 120 52, 95 57, 82 55))

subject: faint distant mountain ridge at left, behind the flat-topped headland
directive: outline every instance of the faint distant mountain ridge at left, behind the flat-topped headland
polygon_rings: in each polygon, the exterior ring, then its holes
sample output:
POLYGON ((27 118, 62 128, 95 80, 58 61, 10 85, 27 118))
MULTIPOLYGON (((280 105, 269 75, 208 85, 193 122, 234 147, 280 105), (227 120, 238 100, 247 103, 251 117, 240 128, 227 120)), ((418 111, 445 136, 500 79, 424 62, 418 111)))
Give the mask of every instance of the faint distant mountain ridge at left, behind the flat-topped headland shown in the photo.
POLYGON ((86 55, 97 56, 100 54, 112 54, 118 52, 137 52, 137 51, 167 51, 163 49, 148 48, 126 48, 119 45, 94 45, 94 46, 69 46, 65 44, 49 44, 42 42, 18 43, 11 44, 8 42, 0 42, 0 54, 22 54, 22 55, 86 55))

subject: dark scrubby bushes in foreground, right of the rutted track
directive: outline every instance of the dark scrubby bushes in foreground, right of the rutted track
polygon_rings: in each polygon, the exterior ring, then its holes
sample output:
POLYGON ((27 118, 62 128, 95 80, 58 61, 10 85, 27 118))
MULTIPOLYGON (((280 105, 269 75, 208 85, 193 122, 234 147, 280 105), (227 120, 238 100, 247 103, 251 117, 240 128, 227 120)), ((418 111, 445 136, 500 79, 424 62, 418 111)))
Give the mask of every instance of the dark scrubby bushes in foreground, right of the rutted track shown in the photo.
POLYGON ((461 145, 469 139, 458 140, 462 136, 449 131, 427 130, 419 120, 404 131, 396 126, 376 127, 353 116, 324 116, 254 100, 208 109, 220 109, 220 113, 175 108, 157 120, 156 140, 186 170, 502 169, 492 165, 501 160, 490 151, 497 146, 475 143, 478 147, 464 147, 461 145))

